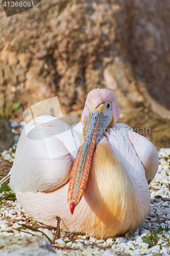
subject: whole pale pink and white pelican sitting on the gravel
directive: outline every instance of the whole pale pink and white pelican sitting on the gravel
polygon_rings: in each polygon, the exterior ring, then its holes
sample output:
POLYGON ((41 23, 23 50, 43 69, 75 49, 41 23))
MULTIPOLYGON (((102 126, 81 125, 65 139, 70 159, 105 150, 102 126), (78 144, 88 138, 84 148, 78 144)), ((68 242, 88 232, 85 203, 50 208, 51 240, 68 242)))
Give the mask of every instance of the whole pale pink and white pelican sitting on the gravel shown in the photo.
POLYGON ((142 225, 159 156, 147 138, 117 123, 119 115, 113 92, 94 89, 81 122, 67 125, 73 139, 58 132, 65 123, 52 116, 27 124, 9 175, 27 215, 53 226, 60 217, 63 230, 100 239, 123 236, 142 225), (33 130, 31 138, 28 131, 33 130))

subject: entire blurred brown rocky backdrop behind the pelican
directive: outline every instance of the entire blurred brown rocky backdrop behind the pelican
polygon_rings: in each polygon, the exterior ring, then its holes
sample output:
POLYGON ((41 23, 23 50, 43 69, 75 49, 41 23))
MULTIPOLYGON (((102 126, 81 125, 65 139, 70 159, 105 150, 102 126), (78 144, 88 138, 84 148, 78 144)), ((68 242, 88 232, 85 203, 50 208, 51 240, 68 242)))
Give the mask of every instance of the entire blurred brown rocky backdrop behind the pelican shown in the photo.
MULTIPOLYGON (((20 122, 28 106, 54 96, 63 114, 80 116, 87 93, 107 88, 119 122, 150 128, 142 135, 169 147, 169 13, 168 0, 41 0, 6 17, 1 2, 1 116, 20 122)), ((0 119, 4 149, 13 143, 7 122, 0 119)))

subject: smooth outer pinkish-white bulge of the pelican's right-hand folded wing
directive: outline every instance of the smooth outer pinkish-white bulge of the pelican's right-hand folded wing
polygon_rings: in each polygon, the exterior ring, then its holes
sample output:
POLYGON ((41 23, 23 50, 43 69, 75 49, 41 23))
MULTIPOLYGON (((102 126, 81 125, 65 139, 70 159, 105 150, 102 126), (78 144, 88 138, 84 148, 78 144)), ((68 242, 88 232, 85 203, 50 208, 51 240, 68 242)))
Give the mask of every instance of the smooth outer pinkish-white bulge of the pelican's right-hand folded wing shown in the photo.
POLYGON ((142 135, 133 132, 133 130, 128 131, 128 136, 144 167, 148 184, 150 184, 158 170, 158 151, 151 141, 142 135))

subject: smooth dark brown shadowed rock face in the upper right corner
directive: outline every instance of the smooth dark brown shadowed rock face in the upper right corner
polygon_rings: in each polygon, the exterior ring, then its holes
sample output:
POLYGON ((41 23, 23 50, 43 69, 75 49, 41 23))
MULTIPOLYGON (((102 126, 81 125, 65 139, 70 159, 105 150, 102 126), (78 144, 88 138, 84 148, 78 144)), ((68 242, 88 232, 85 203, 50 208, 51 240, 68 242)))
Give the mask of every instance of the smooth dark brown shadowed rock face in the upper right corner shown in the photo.
POLYGON ((118 41, 135 78, 144 82, 153 111, 169 118, 170 110, 170 2, 118 0, 118 41), (159 105, 160 104, 160 105, 159 105), (163 106, 164 108, 161 108, 163 106))

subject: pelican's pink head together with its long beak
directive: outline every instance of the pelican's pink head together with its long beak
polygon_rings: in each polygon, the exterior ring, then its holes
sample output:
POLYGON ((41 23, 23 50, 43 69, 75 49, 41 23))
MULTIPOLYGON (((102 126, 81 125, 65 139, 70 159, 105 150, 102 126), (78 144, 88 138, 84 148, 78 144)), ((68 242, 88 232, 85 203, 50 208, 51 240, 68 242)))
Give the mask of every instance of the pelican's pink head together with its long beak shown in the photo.
POLYGON ((82 112, 83 137, 79 147, 68 186, 68 204, 71 214, 80 202, 89 176, 96 145, 108 126, 113 127, 120 115, 114 94, 107 89, 89 92, 82 112))

